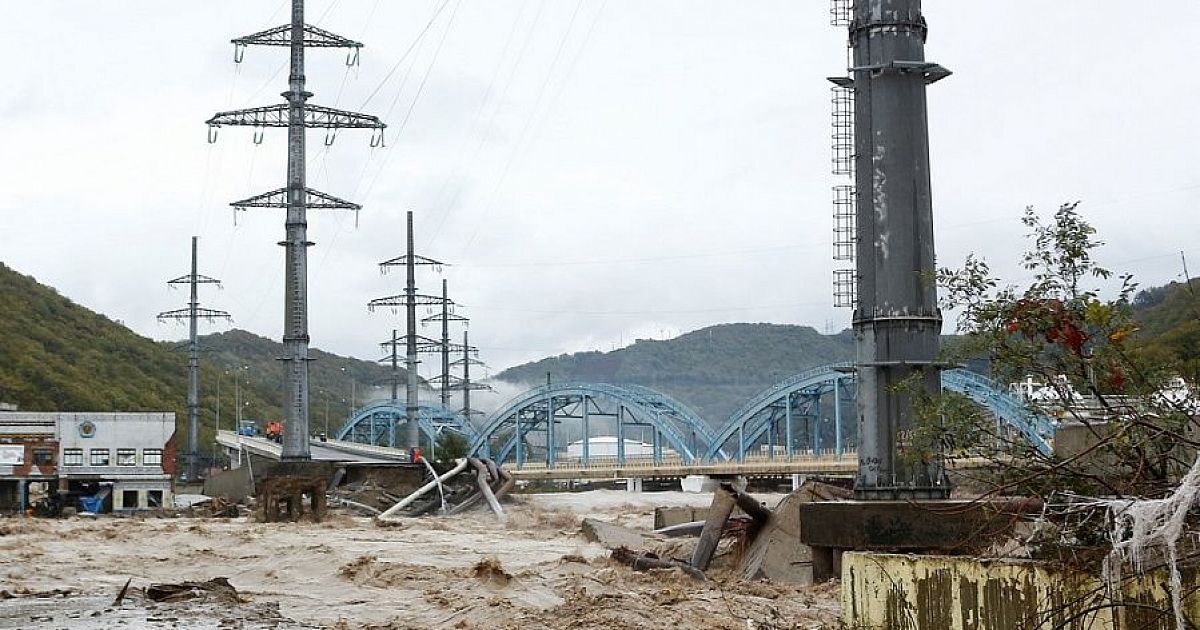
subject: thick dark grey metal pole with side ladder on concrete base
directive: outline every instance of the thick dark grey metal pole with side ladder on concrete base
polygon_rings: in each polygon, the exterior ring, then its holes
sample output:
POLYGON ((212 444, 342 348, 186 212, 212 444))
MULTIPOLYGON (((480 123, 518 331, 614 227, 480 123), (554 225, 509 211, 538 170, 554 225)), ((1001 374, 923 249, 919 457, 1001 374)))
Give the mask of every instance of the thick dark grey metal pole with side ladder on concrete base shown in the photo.
MULTIPOLYGON (((848 76, 830 80, 852 98, 853 332, 858 372, 858 476, 862 499, 944 498, 941 463, 904 466, 898 443, 912 426, 916 378, 940 390, 935 356, 942 314, 934 275, 925 86, 949 76, 925 61, 920 0, 833 1, 848 29, 848 76)), ((836 90, 836 89, 835 89, 836 90)), ((834 102, 835 170, 839 103, 834 102)), ((845 103, 842 103, 845 107, 845 103)), ((845 121, 841 128, 845 127, 845 121)), ((845 157, 845 156, 842 156, 845 157)), ((836 196, 835 196, 836 199, 836 196)), ((835 251, 841 248, 835 247, 835 251)))

